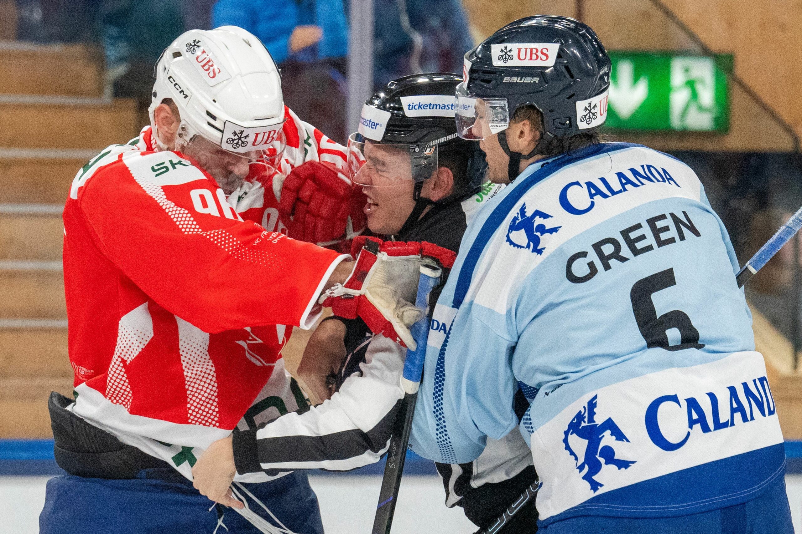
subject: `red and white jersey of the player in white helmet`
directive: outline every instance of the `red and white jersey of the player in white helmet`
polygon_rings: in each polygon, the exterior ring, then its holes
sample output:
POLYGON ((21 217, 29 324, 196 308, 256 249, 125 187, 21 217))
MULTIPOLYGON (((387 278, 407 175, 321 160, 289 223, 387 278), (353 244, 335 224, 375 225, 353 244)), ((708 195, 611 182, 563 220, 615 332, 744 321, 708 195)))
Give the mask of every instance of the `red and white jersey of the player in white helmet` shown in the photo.
MULTIPOLYGON (((287 135, 298 141, 289 172, 330 149, 304 151, 302 132, 327 139, 287 116, 298 130, 287 135)), ((240 420, 305 405, 280 355, 283 325, 314 323, 317 295, 347 256, 244 220, 264 219, 272 191, 243 217, 209 175, 152 141, 148 127, 107 147, 64 207, 71 409, 191 478, 196 457, 240 420)))

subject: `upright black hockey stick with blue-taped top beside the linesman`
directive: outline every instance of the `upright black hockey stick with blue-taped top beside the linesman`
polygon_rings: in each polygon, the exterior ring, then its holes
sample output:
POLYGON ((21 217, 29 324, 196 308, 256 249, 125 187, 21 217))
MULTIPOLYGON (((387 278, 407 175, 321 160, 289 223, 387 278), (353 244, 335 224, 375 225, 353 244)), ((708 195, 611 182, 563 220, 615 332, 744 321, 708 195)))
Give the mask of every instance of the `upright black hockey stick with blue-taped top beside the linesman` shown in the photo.
POLYGON ((429 335, 429 294, 437 286, 439 280, 439 267, 426 263, 421 265, 415 306, 423 310, 423 317, 410 329, 416 347, 414 351, 407 349, 407 356, 404 359, 403 378, 401 379, 404 396, 399 413, 395 416, 390 448, 387 449, 387 464, 384 466, 382 488, 379 491, 379 505, 376 507, 376 516, 373 521, 373 534, 389 534, 393 523, 403 464, 407 457, 412 415, 415 413, 415 401, 418 398, 418 387, 423 374, 423 360, 426 356, 426 343, 429 335))

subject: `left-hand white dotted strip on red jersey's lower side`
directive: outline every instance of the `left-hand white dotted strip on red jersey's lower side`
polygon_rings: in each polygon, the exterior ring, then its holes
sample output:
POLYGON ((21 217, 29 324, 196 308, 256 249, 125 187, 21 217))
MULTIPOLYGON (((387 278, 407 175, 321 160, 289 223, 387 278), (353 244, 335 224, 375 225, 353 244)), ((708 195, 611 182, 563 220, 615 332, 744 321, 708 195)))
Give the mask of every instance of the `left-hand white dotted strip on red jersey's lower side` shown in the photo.
POLYGON ((131 363, 153 337, 153 320, 148 303, 129 311, 119 319, 117 345, 106 380, 106 398, 126 409, 131 408, 133 394, 123 362, 131 363))

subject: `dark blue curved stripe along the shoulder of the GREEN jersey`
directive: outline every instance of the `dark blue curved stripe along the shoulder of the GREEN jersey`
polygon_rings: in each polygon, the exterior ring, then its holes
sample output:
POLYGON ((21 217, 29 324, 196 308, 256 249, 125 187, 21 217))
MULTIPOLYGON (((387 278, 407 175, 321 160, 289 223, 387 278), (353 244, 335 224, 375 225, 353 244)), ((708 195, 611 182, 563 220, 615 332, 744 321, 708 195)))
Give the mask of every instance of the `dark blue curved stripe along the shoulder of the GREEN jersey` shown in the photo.
MULTIPOLYGON (((529 192, 530 189, 537 185, 537 183, 542 182, 557 171, 560 171, 561 169, 568 167, 573 163, 584 163, 587 161, 587 159, 592 158, 593 156, 609 154, 610 152, 622 151, 633 147, 642 147, 642 145, 637 145, 634 143, 601 143, 580 148, 576 151, 569 152, 560 158, 554 159, 552 162, 549 162, 548 165, 544 165, 543 167, 537 169, 537 171, 534 171, 531 175, 527 176, 524 179, 524 183, 517 184, 515 189, 512 190, 509 195, 504 197, 498 206, 496 206, 496 209, 494 209, 492 214, 488 216, 488 219, 484 221, 484 225, 479 231, 479 234, 476 235, 476 239, 473 241, 462 267, 460 267, 460 275, 456 281, 452 307, 459 308, 462 304, 463 300, 465 299, 465 295, 468 294, 468 288, 471 287, 473 271, 476 269, 476 263, 479 263, 479 259, 482 255, 482 251, 484 251, 484 247, 486 247, 490 239, 492 239, 492 236, 496 233, 496 230, 500 228, 501 223, 504 223, 504 219, 507 218, 507 215, 509 215, 512 207, 514 207, 516 203, 524 195, 526 195, 527 192, 529 192)), ((524 171, 524 173, 525 172, 526 171, 524 171)))

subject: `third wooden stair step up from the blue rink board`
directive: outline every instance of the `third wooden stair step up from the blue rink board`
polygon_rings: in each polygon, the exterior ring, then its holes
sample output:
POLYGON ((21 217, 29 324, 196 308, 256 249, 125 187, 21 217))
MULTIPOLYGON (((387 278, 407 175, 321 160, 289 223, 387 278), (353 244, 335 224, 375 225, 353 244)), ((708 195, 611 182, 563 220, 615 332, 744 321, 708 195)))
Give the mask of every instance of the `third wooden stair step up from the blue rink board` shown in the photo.
POLYGON ((0 319, 66 319, 61 262, 0 260, 0 319))

